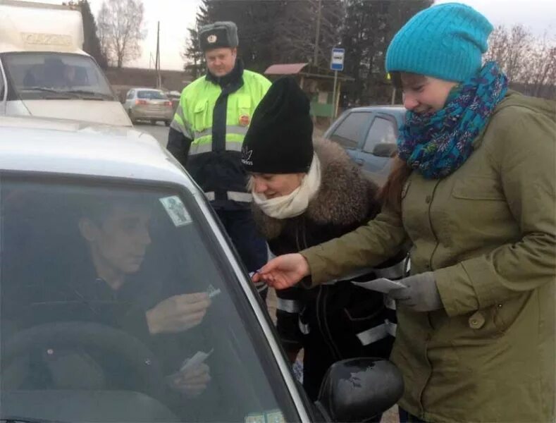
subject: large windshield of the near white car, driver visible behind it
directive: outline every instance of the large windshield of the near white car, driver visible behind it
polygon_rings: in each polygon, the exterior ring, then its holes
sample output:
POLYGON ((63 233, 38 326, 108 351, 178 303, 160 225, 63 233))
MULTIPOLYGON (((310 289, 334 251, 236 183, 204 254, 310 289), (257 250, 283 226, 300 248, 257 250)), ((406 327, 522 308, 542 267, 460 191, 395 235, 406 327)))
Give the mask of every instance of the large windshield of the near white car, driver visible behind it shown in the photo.
POLYGON ((0 206, 0 419, 299 419, 190 192, 10 174, 0 206))

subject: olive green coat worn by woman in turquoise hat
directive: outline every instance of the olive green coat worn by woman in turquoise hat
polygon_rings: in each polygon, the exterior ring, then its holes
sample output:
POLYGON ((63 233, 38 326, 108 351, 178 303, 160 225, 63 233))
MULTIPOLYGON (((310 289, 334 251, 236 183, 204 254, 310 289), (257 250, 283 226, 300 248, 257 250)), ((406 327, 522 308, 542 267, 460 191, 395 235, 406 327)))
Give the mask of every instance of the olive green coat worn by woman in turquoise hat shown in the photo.
POLYGON ((552 422, 556 104, 510 93, 475 151, 441 180, 413 172, 384 211, 302 252, 314 284, 393 255, 434 271, 444 309, 398 308, 399 405, 431 422, 552 422))

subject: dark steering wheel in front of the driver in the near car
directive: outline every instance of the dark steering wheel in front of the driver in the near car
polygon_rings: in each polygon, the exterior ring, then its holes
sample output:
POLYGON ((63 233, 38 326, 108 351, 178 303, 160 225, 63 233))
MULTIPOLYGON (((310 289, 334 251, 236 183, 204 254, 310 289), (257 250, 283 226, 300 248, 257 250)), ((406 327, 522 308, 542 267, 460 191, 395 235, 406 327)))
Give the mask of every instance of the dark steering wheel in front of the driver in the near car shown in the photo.
MULTIPOLYGON (((129 333, 89 321, 61 321, 40 324, 16 333, 6 342, 1 356, 1 372, 14 360, 32 351, 68 350, 101 351, 130 367, 132 375, 144 391, 156 398, 163 393, 163 375, 154 354, 129 333)), ((101 364, 101 363, 99 363, 101 364)))

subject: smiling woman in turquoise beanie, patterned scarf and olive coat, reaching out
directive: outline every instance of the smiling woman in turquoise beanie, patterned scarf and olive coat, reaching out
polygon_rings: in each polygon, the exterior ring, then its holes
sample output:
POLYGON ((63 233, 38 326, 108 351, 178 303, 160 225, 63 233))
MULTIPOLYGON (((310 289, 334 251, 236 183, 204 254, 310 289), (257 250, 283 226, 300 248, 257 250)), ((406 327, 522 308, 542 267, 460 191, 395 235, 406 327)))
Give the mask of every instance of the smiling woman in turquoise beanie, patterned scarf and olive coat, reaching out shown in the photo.
POLYGON ((457 3, 402 27, 386 70, 408 111, 383 211, 255 277, 315 286, 411 241, 406 288, 390 291, 402 422, 555 418, 556 104, 481 63, 492 29, 457 3))

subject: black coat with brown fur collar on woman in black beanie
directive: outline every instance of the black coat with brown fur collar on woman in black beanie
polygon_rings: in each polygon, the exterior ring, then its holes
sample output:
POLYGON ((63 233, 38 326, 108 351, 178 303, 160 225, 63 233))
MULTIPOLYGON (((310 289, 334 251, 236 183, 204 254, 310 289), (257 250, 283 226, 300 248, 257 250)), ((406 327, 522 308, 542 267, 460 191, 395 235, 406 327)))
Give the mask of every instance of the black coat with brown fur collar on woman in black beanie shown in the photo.
MULTIPOLYGON (((254 207, 259 229, 274 255, 299 252, 353 231, 379 212, 377 187, 337 144, 314 144, 321 161, 321 188, 304 214, 273 219, 254 207)), ((381 267, 402 276, 404 255, 381 267)), ((389 274, 390 278, 395 278, 389 274)), ((395 333, 395 311, 383 294, 354 286, 351 280, 378 277, 373 271, 316 288, 295 286, 277 291, 277 329, 285 350, 304 348, 304 388, 316 399, 324 374, 333 362, 350 357, 388 357, 395 333)))

